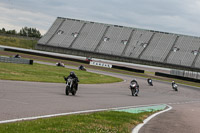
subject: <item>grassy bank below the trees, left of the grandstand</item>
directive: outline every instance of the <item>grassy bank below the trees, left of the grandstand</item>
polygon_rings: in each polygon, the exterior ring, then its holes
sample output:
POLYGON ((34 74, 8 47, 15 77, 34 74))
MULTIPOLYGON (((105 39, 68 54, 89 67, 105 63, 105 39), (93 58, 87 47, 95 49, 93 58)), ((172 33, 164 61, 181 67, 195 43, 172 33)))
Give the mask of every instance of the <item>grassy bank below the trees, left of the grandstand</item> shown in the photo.
POLYGON ((34 49, 36 44, 37 40, 27 40, 18 37, 0 36, 0 45, 34 49))

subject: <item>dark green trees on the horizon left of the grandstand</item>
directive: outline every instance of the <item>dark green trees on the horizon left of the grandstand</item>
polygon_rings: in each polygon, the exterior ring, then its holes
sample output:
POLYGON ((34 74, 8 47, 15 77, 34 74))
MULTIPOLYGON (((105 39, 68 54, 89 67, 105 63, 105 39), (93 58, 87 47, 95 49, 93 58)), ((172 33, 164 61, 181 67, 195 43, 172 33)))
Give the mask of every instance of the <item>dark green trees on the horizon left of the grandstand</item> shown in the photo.
POLYGON ((16 30, 6 30, 5 28, 2 28, 0 29, 0 33, 41 38, 41 33, 39 30, 37 30, 36 28, 28 28, 28 27, 22 27, 22 29, 20 29, 19 32, 17 32, 16 30))

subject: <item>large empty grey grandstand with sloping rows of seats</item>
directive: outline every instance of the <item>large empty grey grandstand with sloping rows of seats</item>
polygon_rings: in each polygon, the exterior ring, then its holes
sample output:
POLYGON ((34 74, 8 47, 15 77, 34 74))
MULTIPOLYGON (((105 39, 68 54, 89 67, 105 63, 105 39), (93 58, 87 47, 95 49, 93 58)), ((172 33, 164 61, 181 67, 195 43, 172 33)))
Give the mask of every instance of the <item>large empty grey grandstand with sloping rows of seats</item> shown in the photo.
POLYGON ((200 70, 200 38, 58 17, 36 49, 200 70))

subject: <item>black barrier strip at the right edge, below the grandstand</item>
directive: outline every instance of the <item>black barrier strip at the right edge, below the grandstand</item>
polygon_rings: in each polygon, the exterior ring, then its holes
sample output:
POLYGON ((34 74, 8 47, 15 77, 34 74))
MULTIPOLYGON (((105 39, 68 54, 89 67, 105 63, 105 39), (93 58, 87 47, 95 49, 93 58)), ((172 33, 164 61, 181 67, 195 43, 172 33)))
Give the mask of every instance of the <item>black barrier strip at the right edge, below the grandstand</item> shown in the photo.
POLYGON ((200 83, 199 79, 193 79, 193 78, 182 77, 182 76, 177 76, 177 75, 171 75, 171 74, 166 74, 166 73, 155 72, 155 75, 156 76, 162 76, 162 77, 168 77, 168 78, 174 78, 174 79, 181 79, 181 80, 200 83))

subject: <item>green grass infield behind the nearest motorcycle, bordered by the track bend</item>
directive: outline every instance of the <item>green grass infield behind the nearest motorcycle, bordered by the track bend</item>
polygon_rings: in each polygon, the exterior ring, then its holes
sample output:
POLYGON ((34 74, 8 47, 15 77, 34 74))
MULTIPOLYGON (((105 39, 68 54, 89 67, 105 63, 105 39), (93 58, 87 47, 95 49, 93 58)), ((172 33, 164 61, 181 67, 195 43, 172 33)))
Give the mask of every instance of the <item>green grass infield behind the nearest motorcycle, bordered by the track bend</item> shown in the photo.
POLYGON ((113 83, 122 81, 120 78, 57 66, 41 65, 37 63, 27 65, 0 62, 0 79, 3 80, 64 83, 63 76, 68 76, 70 71, 76 73, 81 84, 113 83))

